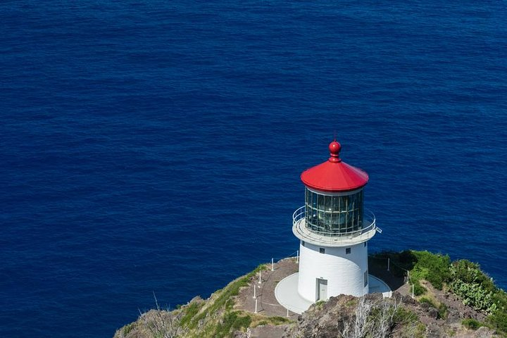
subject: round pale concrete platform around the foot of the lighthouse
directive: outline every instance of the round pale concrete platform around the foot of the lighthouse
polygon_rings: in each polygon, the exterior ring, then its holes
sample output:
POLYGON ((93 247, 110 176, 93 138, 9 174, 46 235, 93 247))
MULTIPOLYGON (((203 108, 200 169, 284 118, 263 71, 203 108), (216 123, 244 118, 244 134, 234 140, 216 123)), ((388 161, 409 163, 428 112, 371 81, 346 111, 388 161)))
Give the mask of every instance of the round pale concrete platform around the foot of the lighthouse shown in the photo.
MULTIPOLYGON (((275 297, 284 308, 295 313, 303 313, 313 304, 301 297, 297 292, 299 273, 285 277, 275 287, 275 297)), ((392 292, 389 286, 373 275, 368 275, 370 294, 380 292, 384 297, 390 297, 392 292)))

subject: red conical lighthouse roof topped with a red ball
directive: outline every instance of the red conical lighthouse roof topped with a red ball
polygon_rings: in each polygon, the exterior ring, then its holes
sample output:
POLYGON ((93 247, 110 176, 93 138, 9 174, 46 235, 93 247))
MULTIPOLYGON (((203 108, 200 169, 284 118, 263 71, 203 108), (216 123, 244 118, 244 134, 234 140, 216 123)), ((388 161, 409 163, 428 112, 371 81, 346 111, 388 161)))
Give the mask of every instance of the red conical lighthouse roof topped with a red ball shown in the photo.
POLYGON ((368 183, 365 171, 346 164, 339 158, 342 146, 335 141, 329 145, 330 158, 301 173, 301 181, 306 187, 323 192, 348 192, 359 189, 368 183))

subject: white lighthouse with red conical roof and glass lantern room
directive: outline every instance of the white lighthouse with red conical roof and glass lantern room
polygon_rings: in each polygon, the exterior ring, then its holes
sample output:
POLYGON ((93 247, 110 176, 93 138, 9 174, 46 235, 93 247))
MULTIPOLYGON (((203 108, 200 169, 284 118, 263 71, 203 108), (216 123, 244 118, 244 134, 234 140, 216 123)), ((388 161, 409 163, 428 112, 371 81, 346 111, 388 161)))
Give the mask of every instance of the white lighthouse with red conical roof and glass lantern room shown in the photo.
POLYGON ((311 303, 368 294, 368 240, 380 231, 363 207, 368 174, 342 161, 338 142, 329 149, 327 161, 301 174, 305 205, 293 216, 300 240, 297 292, 311 303))

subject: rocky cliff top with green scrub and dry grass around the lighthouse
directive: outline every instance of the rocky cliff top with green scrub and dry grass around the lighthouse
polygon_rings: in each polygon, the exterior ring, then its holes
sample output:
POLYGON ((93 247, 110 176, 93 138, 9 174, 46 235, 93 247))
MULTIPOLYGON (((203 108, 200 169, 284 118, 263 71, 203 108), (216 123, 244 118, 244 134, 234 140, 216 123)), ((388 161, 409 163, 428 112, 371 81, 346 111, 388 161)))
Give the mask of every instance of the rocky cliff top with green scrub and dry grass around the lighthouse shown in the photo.
MULTIPOLYGON (((295 262, 279 262, 275 271, 290 264, 295 262)), ((339 295, 315 303, 302 315, 290 313, 289 318, 273 315, 282 309, 276 304, 254 313, 250 291, 259 271, 268 285, 261 296, 268 296, 270 281, 278 281, 260 265, 206 300, 196 297, 173 311, 157 305, 114 337, 507 337, 507 296, 477 264, 451 263, 448 256, 427 251, 403 251, 372 256, 370 270, 383 274, 379 277, 396 289, 392 298, 339 295), (392 264, 389 273, 383 268, 387 257, 392 264)))

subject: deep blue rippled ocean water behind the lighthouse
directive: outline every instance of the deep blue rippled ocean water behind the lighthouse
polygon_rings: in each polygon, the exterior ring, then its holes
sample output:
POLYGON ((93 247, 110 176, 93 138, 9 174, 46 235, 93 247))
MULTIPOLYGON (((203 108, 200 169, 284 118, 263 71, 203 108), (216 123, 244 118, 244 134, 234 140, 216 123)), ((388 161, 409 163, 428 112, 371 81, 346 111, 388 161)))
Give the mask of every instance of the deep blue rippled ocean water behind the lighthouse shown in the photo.
POLYGON ((503 1, 0 3, 0 336, 112 337, 298 249, 334 133, 384 232, 507 288, 503 1))

